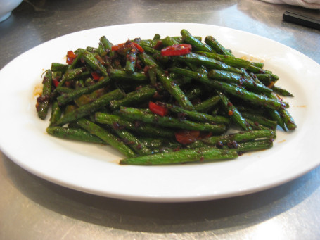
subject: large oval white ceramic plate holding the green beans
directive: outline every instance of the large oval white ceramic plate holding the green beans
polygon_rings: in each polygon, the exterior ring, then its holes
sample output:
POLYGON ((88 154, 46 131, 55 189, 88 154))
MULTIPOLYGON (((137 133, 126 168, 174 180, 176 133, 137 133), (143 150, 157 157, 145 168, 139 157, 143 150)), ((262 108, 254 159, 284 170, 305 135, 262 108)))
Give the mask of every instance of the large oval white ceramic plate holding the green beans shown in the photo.
POLYGON ((58 37, 23 53, 0 72, 0 147, 34 175, 79 191, 136 201, 200 201, 249 194, 275 187, 312 170, 319 131, 320 65, 288 46, 248 32, 193 23, 141 23, 101 27, 58 37), (236 160, 172 166, 118 165, 122 156, 108 146, 82 144, 46 134, 49 120, 37 118, 34 87, 52 62, 68 50, 98 46, 105 35, 118 44, 127 39, 179 35, 181 29, 212 35, 236 56, 263 60, 279 75, 297 130, 278 131, 274 147, 236 160), (263 46, 263 47, 262 47, 263 46))

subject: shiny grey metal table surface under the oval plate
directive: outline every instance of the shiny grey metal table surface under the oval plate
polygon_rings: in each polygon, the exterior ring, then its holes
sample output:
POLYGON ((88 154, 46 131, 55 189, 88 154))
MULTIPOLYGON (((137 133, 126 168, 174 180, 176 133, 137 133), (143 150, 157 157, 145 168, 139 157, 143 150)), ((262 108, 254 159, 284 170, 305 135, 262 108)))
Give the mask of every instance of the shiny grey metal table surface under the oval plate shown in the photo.
MULTIPOLYGON (((319 30, 283 22, 286 10, 320 16, 319 10, 257 0, 25 0, 0 23, 0 69, 63 34, 143 22, 244 30, 320 63, 319 30)), ((255 194, 194 203, 143 203, 60 187, 0 153, 0 239, 320 239, 319 186, 320 168, 315 168, 255 194)))

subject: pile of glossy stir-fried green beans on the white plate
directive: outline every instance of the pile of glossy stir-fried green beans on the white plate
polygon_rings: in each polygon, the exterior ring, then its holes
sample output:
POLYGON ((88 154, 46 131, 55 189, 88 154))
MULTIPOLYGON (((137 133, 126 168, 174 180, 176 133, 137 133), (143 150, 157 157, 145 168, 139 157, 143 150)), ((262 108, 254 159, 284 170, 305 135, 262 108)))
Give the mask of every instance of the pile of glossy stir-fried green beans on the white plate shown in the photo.
POLYGON ((50 118, 46 132, 54 137, 113 146, 124 155, 120 164, 234 159, 271 148, 276 130, 297 127, 279 97, 293 94, 276 86, 279 77, 212 36, 181 30, 119 47, 103 36, 97 47, 72 53, 45 71, 39 118, 50 118), (192 50, 162 56, 174 44, 192 50))

